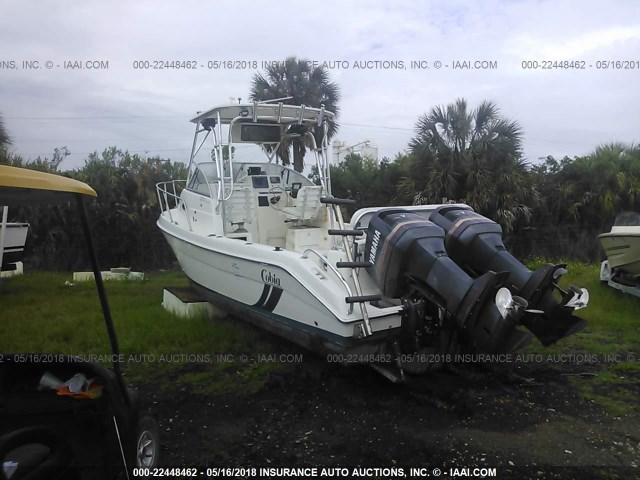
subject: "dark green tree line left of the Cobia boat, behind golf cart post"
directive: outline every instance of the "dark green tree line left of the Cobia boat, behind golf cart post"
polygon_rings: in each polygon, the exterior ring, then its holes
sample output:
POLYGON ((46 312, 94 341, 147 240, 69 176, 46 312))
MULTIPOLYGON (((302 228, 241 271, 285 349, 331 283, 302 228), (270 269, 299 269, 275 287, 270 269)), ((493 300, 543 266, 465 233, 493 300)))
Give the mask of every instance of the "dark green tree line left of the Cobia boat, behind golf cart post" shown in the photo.
MULTIPOLYGON (((156 183, 186 178, 186 165, 160 157, 143 158, 116 147, 94 152, 78 169, 60 171, 69 155, 57 148, 51 158, 25 160, 0 151, 0 163, 75 178, 98 194, 87 202, 87 213, 100 264, 138 270, 167 268, 175 257, 156 226, 160 213, 156 183)), ((84 236, 75 202, 33 204, 13 208, 10 220, 30 224, 25 264, 29 269, 73 271, 86 269, 84 236)))

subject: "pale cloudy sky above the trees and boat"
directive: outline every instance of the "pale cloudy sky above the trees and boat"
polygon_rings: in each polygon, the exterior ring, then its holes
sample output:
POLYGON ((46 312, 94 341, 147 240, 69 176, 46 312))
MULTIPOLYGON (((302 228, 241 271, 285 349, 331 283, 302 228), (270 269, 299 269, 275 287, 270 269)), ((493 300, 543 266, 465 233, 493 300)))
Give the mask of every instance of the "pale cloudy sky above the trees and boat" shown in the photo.
POLYGON ((2 0, 0 116, 16 154, 68 147, 63 170, 112 145, 188 161, 195 112, 247 100, 263 62, 288 56, 327 62, 335 139, 380 158, 461 97, 516 120, 531 163, 640 141, 636 0, 2 0), (157 61, 197 68, 136 68, 157 61))

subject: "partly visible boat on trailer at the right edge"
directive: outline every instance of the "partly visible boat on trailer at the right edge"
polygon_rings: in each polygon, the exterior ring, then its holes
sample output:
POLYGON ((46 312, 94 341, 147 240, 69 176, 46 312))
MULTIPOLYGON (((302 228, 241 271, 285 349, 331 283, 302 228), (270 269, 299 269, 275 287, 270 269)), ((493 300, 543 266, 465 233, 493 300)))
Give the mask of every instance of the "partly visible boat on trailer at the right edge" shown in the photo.
POLYGON ((640 213, 619 213, 611 231, 598 235, 598 241, 607 256, 600 279, 640 296, 640 213))

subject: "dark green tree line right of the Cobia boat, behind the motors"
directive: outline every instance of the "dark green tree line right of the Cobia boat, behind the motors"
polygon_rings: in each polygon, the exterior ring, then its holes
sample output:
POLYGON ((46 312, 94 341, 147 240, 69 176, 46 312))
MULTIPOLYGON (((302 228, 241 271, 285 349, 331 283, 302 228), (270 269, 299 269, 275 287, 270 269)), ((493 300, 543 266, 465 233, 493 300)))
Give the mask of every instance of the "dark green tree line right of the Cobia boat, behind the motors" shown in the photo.
MULTIPOLYGON (((596 236, 610 230, 617 213, 640 211, 640 147, 634 145, 602 145, 587 156, 561 160, 548 156, 515 171, 487 170, 485 192, 456 193, 453 184, 440 191, 419 188, 429 177, 441 178, 437 171, 416 170, 419 162, 411 152, 380 161, 347 155, 331 167, 333 193, 357 200, 348 213, 382 205, 466 203, 501 225, 516 256, 586 262, 604 258, 596 236)), ((478 181, 462 168, 455 178, 478 181)))

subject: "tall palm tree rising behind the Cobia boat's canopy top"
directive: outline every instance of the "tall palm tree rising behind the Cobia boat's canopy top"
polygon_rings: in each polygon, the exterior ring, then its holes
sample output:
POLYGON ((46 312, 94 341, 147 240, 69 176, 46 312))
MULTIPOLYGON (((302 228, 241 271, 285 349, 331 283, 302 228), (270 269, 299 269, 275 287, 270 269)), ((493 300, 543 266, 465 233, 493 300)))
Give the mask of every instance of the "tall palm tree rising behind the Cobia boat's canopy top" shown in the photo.
MULTIPOLYGON (((274 100, 276 98, 292 97, 286 103, 307 105, 319 108, 321 105, 338 114, 340 88, 329 79, 329 72, 322 66, 313 67, 311 62, 296 57, 288 57, 284 62, 274 62, 265 70, 265 75, 256 73, 253 76, 249 98, 252 101, 274 100)), ((329 122, 328 136, 331 138, 337 131, 338 125, 329 122)), ((299 134, 300 137, 291 141, 283 141, 278 156, 282 163, 290 163, 289 147, 293 146, 293 166, 298 172, 304 168, 303 158, 306 152, 304 134, 306 127, 293 125, 288 133, 299 134)), ((321 138, 316 137, 319 144, 321 138)))

